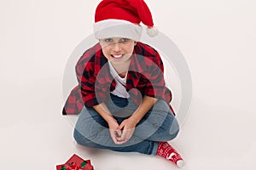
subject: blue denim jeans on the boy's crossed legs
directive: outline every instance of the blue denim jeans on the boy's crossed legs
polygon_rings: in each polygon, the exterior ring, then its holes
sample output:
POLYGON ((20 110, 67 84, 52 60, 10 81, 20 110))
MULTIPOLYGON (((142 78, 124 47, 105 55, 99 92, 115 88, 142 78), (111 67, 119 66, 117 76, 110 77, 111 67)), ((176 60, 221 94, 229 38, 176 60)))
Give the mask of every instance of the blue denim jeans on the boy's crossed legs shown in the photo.
MULTIPOLYGON (((110 96, 106 105, 119 124, 137 110, 137 105, 131 99, 113 94, 110 96)), ((93 108, 84 107, 81 111, 73 136, 78 144, 90 148, 156 155, 159 141, 174 139, 178 131, 177 120, 169 105, 164 100, 158 100, 137 124, 131 139, 125 144, 113 143, 108 123, 93 108)))

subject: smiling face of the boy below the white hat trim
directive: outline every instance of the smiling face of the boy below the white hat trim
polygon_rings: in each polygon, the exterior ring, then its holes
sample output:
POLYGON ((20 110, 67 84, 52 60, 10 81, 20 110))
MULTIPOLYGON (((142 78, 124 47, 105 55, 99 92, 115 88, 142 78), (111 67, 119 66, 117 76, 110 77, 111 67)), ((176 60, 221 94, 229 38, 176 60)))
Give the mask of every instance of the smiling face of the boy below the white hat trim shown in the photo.
POLYGON ((112 63, 121 64, 131 58, 136 42, 124 37, 100 39, 104 56, 112 63))

